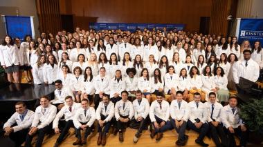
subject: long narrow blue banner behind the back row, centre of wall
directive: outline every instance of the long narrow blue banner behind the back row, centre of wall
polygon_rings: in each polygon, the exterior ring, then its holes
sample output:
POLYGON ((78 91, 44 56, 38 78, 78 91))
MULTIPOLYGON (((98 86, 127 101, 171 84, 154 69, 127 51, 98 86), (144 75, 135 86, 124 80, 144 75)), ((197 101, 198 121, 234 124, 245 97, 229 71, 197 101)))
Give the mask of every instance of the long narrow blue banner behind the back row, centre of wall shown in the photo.
POLYGON ((136 29, 143 30, 147 28, 152 30, 156 28, 156 30, 163 30, 163 28, 167 28, 169 30, 183 30, 185 28, 185 24, 168 24, 168 23, 89 23, 89 28, 94 30, 129 30, 134 32, 136 29))

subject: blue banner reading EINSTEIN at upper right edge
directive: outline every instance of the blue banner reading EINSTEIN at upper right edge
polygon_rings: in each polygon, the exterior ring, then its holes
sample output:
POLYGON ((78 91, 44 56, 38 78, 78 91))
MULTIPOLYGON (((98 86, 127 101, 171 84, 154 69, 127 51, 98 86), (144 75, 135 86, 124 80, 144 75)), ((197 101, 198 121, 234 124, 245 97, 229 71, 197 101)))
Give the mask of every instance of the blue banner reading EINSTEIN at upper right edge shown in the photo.
POLYGON ((263 44, 263 19, 241 19, 238 42, 248 40, 253 46, 259 40, 263 44))

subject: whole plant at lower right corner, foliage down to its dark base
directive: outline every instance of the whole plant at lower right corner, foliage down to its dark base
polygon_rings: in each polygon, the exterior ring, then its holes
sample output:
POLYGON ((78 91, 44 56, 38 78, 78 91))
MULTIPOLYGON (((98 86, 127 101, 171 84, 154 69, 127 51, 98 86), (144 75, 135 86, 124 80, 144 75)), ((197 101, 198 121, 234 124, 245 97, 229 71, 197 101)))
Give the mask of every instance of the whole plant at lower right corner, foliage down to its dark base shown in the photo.
POLYGON ((249 130, 249 141, 260 144, 263 141, 263 99, 253 99, 240 106, 240 117, 249 130))

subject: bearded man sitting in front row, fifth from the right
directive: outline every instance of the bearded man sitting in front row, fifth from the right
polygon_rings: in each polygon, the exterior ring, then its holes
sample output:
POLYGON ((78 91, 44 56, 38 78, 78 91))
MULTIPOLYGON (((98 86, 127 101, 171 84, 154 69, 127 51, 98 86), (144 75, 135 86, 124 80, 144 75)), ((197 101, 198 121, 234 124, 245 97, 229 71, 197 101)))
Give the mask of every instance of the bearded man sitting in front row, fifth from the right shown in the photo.
POLYGON ((156 135, 156 141, 163 137, 163 133, 171 128, 170 124, 170 105, 164 100, 163 92, 156 94, 156 100, 152 102, 149 108, 149 119, 151 119, 153 128, 151 131, 151 138, 156 135))

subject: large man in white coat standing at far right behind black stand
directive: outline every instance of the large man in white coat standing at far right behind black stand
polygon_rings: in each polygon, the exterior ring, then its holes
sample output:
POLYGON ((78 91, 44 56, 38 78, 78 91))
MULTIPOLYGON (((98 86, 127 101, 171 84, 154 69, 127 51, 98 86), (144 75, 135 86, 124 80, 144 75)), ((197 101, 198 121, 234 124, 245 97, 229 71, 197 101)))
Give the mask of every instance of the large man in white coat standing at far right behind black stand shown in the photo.
POLYGON ((237 61, 233 65, 233 77, 235 84, 239 84, 239 77, 250 81, 257 81, 260 75, 260 67, 257 62, 251 59, 251 50, 244 50, 244 60, 237 61))

